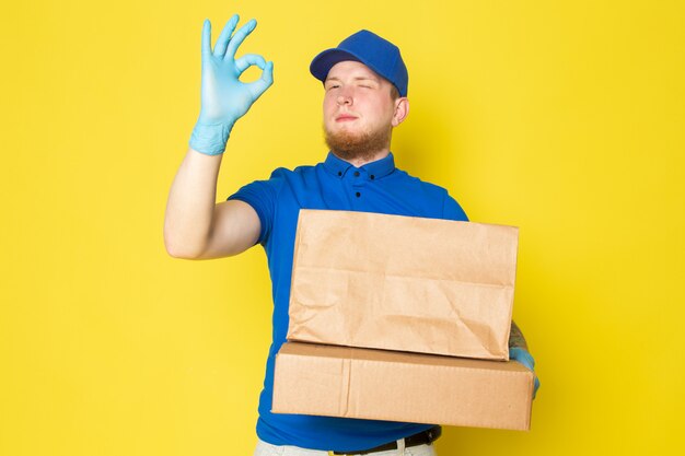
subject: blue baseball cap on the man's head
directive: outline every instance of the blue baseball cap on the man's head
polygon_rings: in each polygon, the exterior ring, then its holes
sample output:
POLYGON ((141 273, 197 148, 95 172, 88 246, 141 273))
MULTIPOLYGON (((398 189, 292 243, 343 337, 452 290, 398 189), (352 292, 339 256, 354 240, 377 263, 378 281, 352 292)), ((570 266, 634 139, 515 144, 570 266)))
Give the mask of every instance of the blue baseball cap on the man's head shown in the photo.
POLYGON ((399 96, 407 96, 407 67, 402 60, 399 48, 387 39, 369 31, 359 31, 345 38, 338 47, 326 49, 314 57, 310 71, 314 78, 325 82, 333 66, 345 60, 362 62, 388 80, 397 89, 399 96))

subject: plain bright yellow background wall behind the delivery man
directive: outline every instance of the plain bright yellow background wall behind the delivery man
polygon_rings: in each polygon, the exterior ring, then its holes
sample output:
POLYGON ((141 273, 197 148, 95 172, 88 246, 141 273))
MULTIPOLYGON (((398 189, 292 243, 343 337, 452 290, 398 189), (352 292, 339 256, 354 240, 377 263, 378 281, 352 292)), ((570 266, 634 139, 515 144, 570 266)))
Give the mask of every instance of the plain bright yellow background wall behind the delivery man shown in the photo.
POLYGON ((324 159, 310 60, 368 27, 409 68, 398 166, 521 229, 533 429, 449 428, 442 456, 680 454, 683 2, 67 0, 0 14, 0 455, 252 454, 264 254, 185 261, 162 237, 202 20, 216 39, 233 12, 258 20, 241 52, 276 82, 234 129, 218 200, 324 159))

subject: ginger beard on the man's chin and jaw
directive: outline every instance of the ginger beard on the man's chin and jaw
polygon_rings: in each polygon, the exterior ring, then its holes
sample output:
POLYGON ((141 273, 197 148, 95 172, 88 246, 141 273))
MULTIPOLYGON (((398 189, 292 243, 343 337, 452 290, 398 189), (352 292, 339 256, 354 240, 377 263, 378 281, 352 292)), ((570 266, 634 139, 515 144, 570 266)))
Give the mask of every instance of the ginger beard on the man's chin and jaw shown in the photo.
POLYGON ((330 131, 324 125, 326 145, 334 154, 348 162, 371 161, 379 151, 390 147, 392 131, 390 126, 375 131, 330 131))

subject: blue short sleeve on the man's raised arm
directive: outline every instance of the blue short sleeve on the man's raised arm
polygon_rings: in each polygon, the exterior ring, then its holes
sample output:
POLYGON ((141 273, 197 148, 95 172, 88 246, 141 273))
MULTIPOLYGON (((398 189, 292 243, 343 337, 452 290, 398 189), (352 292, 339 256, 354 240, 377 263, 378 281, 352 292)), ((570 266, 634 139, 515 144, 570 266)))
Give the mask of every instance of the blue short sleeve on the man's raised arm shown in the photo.
POLYGON ((276 214, 276 202, 278 194, 285 180, 285 168, 278 168, 271 173, 268 180, 255 180, 241 187, 227 200, 236 199, 247 204, 257 212, 259 217, 259 239, 258 243, 265 245, 271 233, 274 217, 276 214))

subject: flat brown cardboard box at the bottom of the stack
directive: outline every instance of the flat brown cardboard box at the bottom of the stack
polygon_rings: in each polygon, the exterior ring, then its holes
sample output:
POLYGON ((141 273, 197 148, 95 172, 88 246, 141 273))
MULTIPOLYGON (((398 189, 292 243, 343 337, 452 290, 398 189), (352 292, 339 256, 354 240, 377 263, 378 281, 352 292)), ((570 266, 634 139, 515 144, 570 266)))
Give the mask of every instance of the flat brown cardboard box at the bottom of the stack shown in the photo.
POLYGON ((515 361, 287 342, 271 411, 524 431, 533 382, 515 361))

